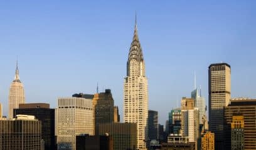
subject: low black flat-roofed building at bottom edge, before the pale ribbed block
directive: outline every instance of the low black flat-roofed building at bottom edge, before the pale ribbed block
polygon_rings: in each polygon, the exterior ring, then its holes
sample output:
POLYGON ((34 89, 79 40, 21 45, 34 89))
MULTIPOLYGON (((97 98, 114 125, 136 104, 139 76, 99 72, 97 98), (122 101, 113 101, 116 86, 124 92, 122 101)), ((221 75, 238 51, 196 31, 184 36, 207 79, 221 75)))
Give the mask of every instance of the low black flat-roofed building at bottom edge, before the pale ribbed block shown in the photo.
POLYGON ((113 139, 111 136, 89 136, 82 134, 77 136, 76 150, 113 150, 113 139))

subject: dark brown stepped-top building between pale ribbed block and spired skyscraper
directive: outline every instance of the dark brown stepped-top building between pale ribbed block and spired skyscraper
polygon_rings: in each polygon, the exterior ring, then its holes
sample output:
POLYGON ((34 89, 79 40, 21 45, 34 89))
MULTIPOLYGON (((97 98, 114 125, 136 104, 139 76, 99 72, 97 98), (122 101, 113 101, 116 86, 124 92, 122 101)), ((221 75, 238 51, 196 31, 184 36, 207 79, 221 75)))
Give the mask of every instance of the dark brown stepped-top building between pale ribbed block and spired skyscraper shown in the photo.
POLYGON ((98 134, 99 124, 114 123, 114 99, 110 89, 94 94, 92 104, 95 134, 98 134))

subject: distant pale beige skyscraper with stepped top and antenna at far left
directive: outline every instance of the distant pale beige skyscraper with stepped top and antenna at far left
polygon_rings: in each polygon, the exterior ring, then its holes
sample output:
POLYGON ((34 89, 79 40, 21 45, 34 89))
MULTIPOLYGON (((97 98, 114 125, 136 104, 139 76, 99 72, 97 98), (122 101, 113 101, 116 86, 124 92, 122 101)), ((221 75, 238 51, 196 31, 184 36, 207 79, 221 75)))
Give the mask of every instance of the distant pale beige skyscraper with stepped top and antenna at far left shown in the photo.
POLYGON ((9 119, 13 119, 13 109, 19 108, 19 104, 25 103, 24 87, 19 80, 18 63, 16 63, 16 72, 9 92, 9 119))

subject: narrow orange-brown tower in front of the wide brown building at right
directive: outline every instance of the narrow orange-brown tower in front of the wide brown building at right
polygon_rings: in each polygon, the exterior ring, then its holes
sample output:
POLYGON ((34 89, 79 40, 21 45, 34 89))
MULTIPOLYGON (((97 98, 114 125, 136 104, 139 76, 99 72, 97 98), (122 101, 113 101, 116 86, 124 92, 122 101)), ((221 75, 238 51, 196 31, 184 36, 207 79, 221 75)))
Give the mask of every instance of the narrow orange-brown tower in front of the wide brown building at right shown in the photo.
POLYGON ((244 138, 244 118, 243 116, 232 116, 231 123, 231 149, 245 149, 245 138, 244 138))

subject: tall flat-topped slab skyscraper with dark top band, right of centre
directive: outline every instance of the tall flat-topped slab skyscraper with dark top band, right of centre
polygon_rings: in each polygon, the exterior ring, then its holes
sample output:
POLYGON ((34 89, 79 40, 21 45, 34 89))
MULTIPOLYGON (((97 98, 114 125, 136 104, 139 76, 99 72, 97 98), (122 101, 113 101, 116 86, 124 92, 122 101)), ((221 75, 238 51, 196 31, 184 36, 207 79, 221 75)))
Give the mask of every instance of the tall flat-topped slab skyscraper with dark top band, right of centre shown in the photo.
POLYGON ((223 107, 230 102, 231 69, 227 63, 211 64, 209 76, 210 131, 215 134, 215 149, 223 149, 223 107))

